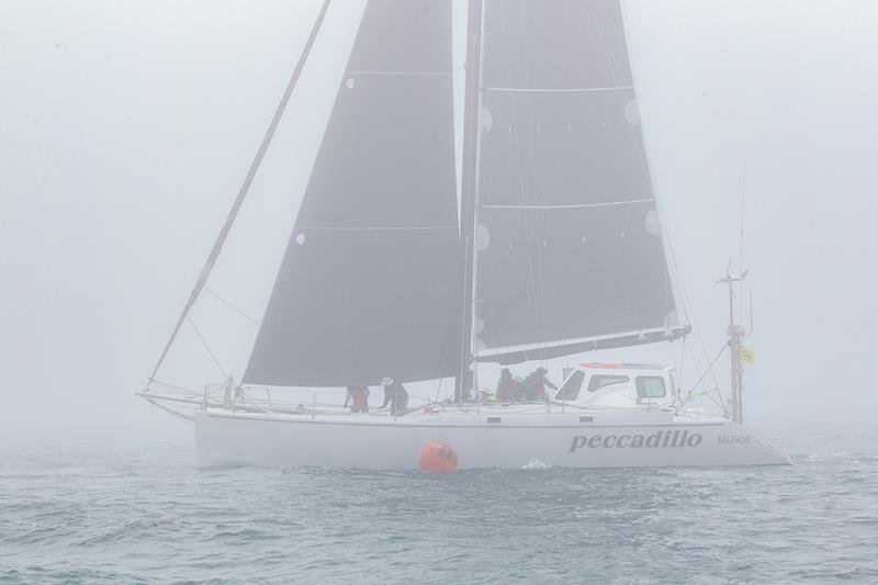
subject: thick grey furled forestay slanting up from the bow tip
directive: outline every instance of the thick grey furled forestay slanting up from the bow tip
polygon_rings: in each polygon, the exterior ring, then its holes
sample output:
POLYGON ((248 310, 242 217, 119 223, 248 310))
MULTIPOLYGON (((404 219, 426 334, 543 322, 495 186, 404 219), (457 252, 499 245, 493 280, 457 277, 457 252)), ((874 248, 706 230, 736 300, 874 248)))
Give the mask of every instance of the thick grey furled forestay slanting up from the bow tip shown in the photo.
MULTIPOLYGON (((311 55, 311 49, 314 47, 314 42, 317 38, 317 33, 320 30, 320 25, 323 24, 324 19, 326 18, 326 12, 329 10, 329 2, 331 0, 324 0, 323 7, 320 8, 319 13, 317 14, 317 20, 314 22, 314 26, 311 30, 311 34, 308 35, 307 41, 305 42, 305 47, 302 50, 302 54, 299 56, 299 61, 293 69, 293 74, 290 77, 290 81, 286 83, 286 89, 283 92, 283 97, 281 98, 278 108, 274 110, 274 115, 271 119, 271 123, 266 131, 264 136, 262 137, 262 143, 259 145, 259 149, 254 157, 252 162, 250 162, 250 168, 247 170, 247 176, 244 178, 244 182, 238 189, 238 194, 235 198, 235 203, 232 205, 232 209, 226 216, 226 221, 223 224, 223 227, 219 229, 219 235, 216 237, 216 241, 214 241, 213 248, 211 249, 211 254, 207 257, 207 260, 204 262, 204 268, 202 268, 201 273, 199 274, 198 280, 195 281, 195 285, 192 289, 192 292, 189 294, 189 300, 183 306, 183 311, 180 314, 180 317, 177 319, 177 324, 171 331, 171 336, 168 339, 167 344, 165 344, 165 348, 161 351, 161 355, 156 362, 155 368, 153 369, 153 373, 149 375, 149 380, 151 381, 156 374, 158 373, 161 364, 165 362, 165 358, 168 356, 168 352, 173 346, 173 341, 177 339, 177 336, 180 333, 180 328, 183 326, 183 322, 189 318, 189 312, 192 310, 192 306, 195 304, 195 301, 199 300, 201 295, 202 289, 207 283, 207 279, 213 271, 213 267, 216 263, 216 259, 219 257, 219 252, 223 250, 223 246, 228 238, 228 234, 232 230, 232 226, 235 224, 235 220, 240 212, 240 207, 244 204, 244 200, 247 198, 247 194, 250 192, 250 185, 256 178, 256 173, 259 171, 259 167, 262 165, 262 159, 268 151, 268 147, 271 144, 271 139, 274 137, 274 132, 278 130, 278 125, 280 124, 281 119, 283 117, 284 111, 286 111, 286 104, 290 102, 290 98, 293 94, 293 89, 299 81, 299 77, 302 75, 302 70, 305 68, 305 64, 307 63, 308 56, 311 55)), ((191 323, 191 320, 190 320, 191 323)), ((146 386, 149 390, 149 384, 146 386)))

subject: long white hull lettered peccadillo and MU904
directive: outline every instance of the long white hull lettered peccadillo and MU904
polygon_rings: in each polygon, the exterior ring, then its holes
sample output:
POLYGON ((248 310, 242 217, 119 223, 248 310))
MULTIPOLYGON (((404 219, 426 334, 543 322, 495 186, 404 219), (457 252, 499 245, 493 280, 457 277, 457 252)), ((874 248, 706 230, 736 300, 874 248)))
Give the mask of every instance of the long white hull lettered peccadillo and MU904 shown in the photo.
MULTIPOLYGON (((538 410, 538 409, 537 409, 538 410)), ((381 415, 195 413, 201 466, 418 468, 429 442, 451 445, 459 469, 786 465, 789 459, 744 425, 669 412, 510 412, 503 407, 381 415)))

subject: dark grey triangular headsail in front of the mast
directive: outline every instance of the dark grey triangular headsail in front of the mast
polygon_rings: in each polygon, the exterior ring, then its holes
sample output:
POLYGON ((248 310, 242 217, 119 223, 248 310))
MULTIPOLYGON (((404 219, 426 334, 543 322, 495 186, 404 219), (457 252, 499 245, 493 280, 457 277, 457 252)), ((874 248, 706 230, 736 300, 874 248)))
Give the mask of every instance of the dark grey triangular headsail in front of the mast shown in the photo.
POLYGON ((246 383, 453 375, 460 340, 451 4, 371 0, 246 383))

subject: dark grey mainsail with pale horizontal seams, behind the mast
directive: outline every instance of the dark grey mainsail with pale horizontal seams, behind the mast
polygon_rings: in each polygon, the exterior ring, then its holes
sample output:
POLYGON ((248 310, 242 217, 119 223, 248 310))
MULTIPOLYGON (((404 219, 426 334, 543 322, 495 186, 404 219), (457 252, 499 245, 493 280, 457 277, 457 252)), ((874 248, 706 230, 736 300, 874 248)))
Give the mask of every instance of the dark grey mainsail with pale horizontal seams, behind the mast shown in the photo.
POLYGON ((620 0, 485 0, 484 30, 479 359, 685 334, 620 0))

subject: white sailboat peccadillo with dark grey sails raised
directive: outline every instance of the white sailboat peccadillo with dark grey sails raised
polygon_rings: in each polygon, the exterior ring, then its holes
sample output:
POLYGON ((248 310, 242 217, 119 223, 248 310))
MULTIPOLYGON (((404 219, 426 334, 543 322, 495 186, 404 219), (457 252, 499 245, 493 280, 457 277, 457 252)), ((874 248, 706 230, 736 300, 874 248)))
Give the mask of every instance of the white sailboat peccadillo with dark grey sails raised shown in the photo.
MULTIPOLYGON (((621 0, 466 5, 460 185, 451 2, 369 0, 243 379, 175 397, 156 374, 294 91, 325 0, 139 395, 193 424, 200 465, 417 469, 437 443, 461 469, 788 464, 743 424, 734 314, 738 402, 728 416, 689 407, 662 364, 575 364, 536 397, 480 391, 494 385, 482 368, 673 342, 691 328, 672 279, 621 0), (393 412, 318 404, 323 389, 386 379, 453 379, 454 393, 393 412), (314 400, 272 401, 279 389, 313 389, 314 400)), ((740 277, 727 281, 731 295, 740 277)))

